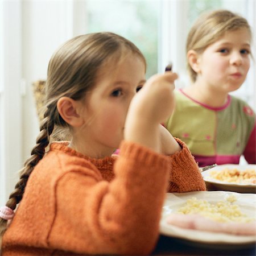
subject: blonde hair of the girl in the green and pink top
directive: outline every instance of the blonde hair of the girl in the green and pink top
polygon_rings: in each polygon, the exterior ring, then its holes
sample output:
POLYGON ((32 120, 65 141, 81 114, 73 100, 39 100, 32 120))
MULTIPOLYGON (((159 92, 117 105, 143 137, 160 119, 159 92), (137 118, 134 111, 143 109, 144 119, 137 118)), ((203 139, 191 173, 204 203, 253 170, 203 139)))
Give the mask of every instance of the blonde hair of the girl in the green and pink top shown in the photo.
MULTIPOLYGON (((187 36, 186 52, 193 49, 202 53, 210 44, 216 42, 228 31, 247 28, 251 34, 251 28, 245 18, 228 10, 215 10, 204 13, 196 20, 187 36)), ((193 71, 187 59, 187 69, 193 82, 197 73, 193 71)))

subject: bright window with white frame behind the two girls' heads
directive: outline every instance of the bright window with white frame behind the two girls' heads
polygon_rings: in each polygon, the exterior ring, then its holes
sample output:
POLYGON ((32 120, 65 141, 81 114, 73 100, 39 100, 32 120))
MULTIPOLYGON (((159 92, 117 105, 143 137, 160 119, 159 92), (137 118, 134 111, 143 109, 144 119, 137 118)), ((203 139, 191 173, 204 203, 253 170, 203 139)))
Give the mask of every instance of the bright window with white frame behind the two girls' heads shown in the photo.
MULTIPOLYGON (((255 29, 253 1, 85 1, 85 32, 112 31, 130 39, 146 57, 147 78, 163 72, 172 61, 174 71, 179 73, 176 87, 181 88, 189 83, 185 67, 189 28, 203 11, 221 8, 245 16, 255 29)), ((232 93, 251 106, 255 106, 254 69, 252 63, 245 84, 232 93)))

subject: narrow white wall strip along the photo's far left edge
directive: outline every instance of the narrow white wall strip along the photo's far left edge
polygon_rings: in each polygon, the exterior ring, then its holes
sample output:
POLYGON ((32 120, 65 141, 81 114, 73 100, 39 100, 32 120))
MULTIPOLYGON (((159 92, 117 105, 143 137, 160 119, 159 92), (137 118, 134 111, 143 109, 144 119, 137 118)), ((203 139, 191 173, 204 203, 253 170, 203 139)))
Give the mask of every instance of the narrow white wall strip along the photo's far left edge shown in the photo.
POLYGON ((22 163, 20 2, 0 2, 0 200, 5 203, 22 163))

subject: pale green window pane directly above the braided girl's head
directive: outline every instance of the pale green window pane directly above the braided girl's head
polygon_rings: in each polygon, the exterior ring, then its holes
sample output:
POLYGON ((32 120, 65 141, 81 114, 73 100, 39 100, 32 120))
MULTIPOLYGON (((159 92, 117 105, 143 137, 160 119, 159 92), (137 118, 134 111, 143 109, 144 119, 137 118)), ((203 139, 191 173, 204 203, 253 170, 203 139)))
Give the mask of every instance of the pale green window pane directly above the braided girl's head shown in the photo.
POLYGON ((110 31, 131 40, 147 61, 146 76, 158 70, 159 1, 87 1, 88 32, 110 31))

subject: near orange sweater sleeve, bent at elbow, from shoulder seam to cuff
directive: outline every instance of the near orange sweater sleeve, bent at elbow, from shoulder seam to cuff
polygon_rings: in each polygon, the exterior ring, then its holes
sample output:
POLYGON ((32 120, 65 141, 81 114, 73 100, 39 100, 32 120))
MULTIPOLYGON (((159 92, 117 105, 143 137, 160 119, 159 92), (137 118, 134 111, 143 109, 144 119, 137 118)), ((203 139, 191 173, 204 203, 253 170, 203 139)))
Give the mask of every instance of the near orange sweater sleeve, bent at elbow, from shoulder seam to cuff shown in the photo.
POLYGON ((56 185, 51 247, 81 254, 149 254, 159 235, 169 166, 168 156, 122 142, 110 183, 90 175, 92 170, 66 172, 56 185))

